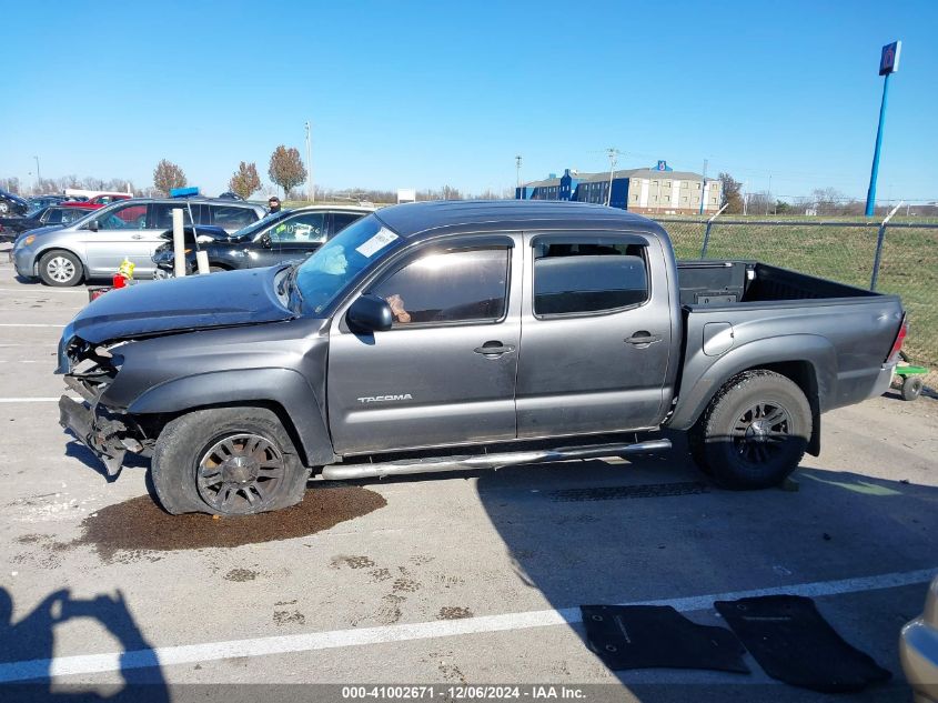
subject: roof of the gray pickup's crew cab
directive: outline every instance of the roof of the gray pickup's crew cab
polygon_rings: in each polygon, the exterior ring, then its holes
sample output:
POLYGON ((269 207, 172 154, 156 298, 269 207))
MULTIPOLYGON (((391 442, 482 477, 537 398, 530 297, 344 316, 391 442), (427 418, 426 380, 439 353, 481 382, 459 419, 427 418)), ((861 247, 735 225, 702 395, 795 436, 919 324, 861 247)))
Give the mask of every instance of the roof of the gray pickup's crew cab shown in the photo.
POLYGON ((440 229, 607 229, 627 227, 657 231, 634 212, 586 202, 546 200, 435 200, 384 208, 376 217, 401 237, 440 229))

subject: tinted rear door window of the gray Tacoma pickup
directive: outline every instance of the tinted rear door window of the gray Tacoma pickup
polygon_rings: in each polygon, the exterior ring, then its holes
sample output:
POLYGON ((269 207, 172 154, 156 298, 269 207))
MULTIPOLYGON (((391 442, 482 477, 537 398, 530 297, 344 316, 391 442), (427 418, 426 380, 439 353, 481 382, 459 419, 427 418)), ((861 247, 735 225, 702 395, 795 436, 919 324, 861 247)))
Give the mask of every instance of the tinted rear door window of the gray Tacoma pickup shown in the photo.
POLYGON ((634 238, 549 237, 533 249, 535 315, 599 313, 649 298, 645 245, 634 238))

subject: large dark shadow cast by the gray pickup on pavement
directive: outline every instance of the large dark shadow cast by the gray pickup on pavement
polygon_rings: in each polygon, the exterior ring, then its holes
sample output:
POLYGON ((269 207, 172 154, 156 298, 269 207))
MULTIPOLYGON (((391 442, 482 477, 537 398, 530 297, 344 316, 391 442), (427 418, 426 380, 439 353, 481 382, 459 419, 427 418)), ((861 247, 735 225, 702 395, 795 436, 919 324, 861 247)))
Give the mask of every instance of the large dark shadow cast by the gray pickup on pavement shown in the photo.
MULTIPOLYGON (((938 565, 938 489, 830 471, 806 458, 794 474, 796 490, 723 491, 705 482, 679 435, 673 441, 669 454, 627 463, 596 460, 478 474, 478 496, 520 582, 561 610, 938 565)), ((818 599, 830 624, 894 675, 891 684, 838 700, 908 700, 898 633, 921 610, 925 591, 922 583, 818 599)), ((712 606, 690 619, 725 625, 712 606)), ((594 656, 582 625, 572 627, 584 640, 584 656, 594 656)), ((532 634, 534 650, 537 641, 532 634)), ((685 670, 611 674, 646 702, 829 700, 774 682, 750 664, 753 676, 685 670)))

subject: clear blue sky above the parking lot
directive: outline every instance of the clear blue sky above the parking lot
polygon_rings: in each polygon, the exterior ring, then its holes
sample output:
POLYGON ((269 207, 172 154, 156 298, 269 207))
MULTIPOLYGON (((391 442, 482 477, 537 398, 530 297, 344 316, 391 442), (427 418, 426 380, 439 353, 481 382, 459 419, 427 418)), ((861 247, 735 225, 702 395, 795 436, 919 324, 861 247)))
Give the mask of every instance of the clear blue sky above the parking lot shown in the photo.
POLYGON ((179 163, 214 194, 304 151, 330 188, 480 192, 667 159, 752 190, 938 199, 938 2, 3 3, 0 177, 179 163))

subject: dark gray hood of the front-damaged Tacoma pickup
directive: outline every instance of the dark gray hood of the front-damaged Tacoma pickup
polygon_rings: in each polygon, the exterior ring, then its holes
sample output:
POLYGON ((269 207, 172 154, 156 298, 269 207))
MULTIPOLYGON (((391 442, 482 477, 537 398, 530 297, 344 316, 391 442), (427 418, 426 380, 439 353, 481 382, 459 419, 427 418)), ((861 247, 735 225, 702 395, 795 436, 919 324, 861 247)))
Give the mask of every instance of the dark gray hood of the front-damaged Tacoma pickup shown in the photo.
POLYGON ((72 337, 99 344, 134 337, 290 320, 295 315, 274 292, 284 267, 228 271, 153 281, 108 291, 65 328, 72 337))

